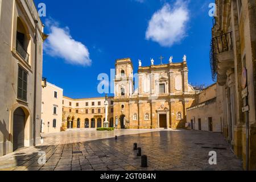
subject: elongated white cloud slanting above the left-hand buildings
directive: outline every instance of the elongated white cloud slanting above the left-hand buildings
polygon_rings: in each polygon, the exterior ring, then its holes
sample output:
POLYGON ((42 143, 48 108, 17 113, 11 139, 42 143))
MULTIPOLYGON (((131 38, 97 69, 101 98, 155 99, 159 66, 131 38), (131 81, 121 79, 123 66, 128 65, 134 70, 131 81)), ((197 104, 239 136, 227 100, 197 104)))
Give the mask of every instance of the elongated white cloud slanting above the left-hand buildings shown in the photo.
POLYGON ((92 64, 88 48, 72 38, 69 28, 60 28, 58 23, 47 20, 50 29, 49 36, 44 44, 44 51, 51 56, 64 59, 69 64, 89 66, 92 64))

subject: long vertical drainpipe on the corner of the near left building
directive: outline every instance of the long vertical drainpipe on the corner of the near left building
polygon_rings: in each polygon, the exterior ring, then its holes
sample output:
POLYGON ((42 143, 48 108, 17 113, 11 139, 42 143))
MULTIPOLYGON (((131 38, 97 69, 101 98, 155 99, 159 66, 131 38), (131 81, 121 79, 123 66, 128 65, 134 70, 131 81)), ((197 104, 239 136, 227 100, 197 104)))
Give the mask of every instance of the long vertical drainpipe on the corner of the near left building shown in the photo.
POLYGON ((36 145, 36 84, 37 84, 37 62, 38 62, 38 20, 34 20, 35 22, 35 69, 34 69, 34 119, 33 119, 33 138, 34 138, 34 146, 36 145))

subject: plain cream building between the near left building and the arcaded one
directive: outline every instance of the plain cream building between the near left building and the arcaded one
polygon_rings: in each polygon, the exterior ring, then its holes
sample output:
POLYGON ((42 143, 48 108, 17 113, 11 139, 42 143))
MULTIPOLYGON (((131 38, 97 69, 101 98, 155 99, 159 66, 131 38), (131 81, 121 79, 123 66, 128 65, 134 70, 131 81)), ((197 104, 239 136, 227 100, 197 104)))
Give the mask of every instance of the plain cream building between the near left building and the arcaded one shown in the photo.
POLYGON ((47 82, 42 90, 41 133, 56 133, 62 127, 63 89, 47 82))

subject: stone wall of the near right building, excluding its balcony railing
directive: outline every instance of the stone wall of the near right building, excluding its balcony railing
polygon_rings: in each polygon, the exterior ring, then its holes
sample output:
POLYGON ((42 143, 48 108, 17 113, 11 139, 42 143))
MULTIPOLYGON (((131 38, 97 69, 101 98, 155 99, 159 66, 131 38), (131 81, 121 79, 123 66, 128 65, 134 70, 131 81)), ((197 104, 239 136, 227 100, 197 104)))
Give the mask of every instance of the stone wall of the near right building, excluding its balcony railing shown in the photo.
MULTIPOLYGON (((255 1, 220 1, 217 3, 216 24, 213 27, 213 37, 226 32, 232 32, 232 57, 226 68, 226 80, 222 80, 222 98, 224 100, 224 135, 232 145, 236 155, 243 159, 246 166, 246 121, 242 113, 243 99, 241 87, 242 68, 247 69, 247 89, 250 123, 249 168, 256 169, 255 138, 255 60, 256 60, 256 5, 255 1), (231 113, 231 114, 230 114, 231 113), (231 122, 230 122, 231 121, 231 122)), ((220 57, 221 55, 218 55, 220 57)), ((218 65, 218 68, 221 68, 218 65)), ((219 72, 220 73, 220 72, 219 72)))

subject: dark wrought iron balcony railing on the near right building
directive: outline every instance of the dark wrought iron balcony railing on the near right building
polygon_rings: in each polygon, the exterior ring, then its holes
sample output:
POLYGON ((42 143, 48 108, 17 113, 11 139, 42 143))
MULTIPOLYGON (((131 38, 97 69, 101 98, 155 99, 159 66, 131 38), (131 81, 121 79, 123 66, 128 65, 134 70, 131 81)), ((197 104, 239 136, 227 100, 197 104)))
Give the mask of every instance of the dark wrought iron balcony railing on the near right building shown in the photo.
POLYGON ((214 46, 216 46, 218 53, 233 50, 232 32, 222 34, 213 38, 214 46))

